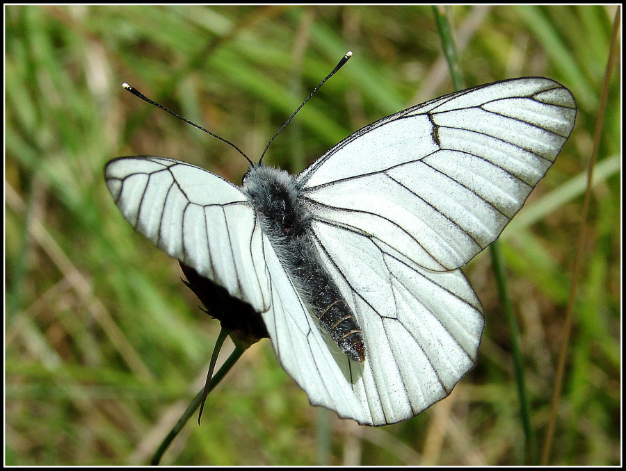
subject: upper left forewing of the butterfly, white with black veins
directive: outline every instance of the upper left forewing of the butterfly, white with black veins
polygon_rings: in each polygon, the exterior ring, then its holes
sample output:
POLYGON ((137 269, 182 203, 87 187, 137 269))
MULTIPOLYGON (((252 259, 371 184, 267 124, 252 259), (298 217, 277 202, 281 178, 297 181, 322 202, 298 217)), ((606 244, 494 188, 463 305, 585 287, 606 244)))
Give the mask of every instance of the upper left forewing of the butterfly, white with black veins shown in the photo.
POLYGON ((264 236, 239 188, 195 165, 149 156, 111 160, 104 178, 136 231, 258 312, 268 309, 264 236))

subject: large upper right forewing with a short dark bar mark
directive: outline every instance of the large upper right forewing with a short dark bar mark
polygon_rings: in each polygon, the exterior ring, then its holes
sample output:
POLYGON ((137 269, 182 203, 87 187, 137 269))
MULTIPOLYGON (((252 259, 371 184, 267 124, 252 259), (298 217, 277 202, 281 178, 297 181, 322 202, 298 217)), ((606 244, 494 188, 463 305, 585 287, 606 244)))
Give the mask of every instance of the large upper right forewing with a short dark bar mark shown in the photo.
POLYGON ((465 265, 501 233, 567 140, 572 94, 516 78, 364 127, 298 177, 316 219, 428 270, 465 265))

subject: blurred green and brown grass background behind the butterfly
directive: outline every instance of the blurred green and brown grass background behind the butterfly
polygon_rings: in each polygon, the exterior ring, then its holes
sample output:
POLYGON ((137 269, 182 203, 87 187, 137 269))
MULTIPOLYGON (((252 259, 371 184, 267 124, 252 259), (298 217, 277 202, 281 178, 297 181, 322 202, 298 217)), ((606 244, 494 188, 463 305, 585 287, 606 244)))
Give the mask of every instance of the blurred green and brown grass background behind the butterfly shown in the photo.
MULTIPOLYGON (((543 444, 584 173, 615 7, 456 6, 467 86, 548 76, 577 123, 501 237, 543 444)), ((134 233, 104 184, 116 156, 186 160, 241 182, 308 90, 353 58, 275 140, 292 172, 356 129, 453 91, 425 6, 7 6, 6 463, 146 463, 204 382, 218 322, 177 263, 134 233)), ((613 73, 551 463, 620 463, 620 76, 613 73)), ((416 418, 359 427, 310 406, 271 345, 251 347, 163 459, 177 465, 517 465, 524 439, 506 321, 485 254, 478 365, 416 418)), ((230 347, 228 347, 230 348, 230 347)), ((227 352, 226 352, 227 353, 227 352)))

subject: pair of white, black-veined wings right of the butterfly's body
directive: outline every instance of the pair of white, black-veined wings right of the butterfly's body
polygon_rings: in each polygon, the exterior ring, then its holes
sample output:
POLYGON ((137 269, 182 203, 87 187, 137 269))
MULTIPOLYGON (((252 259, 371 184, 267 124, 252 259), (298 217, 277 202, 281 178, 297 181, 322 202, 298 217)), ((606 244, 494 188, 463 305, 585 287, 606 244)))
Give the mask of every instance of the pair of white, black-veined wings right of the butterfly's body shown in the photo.
POLYGON ((460 267, 522 207, 574 120, 552 80, 483 85, 370 124, 298 176, 362 329, 352 388, 374 424, 422 411, 474 365, 483 316, 460 267))

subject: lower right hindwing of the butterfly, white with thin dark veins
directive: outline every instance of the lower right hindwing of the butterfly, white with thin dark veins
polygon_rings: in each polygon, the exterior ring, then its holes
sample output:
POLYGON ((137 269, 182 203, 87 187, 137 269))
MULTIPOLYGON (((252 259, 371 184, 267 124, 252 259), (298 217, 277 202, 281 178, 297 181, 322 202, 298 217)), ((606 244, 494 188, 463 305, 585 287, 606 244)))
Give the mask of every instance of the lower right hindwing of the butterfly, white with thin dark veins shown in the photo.
POLYGON ((367 411, 363 423, 399 422, 446 397, 474 365, 483 331, 480 303, 463 272, 428 272, 360 233, 321 222, 313 228, 362 328, 367 358, 348 365, 348 382, 367 411))

